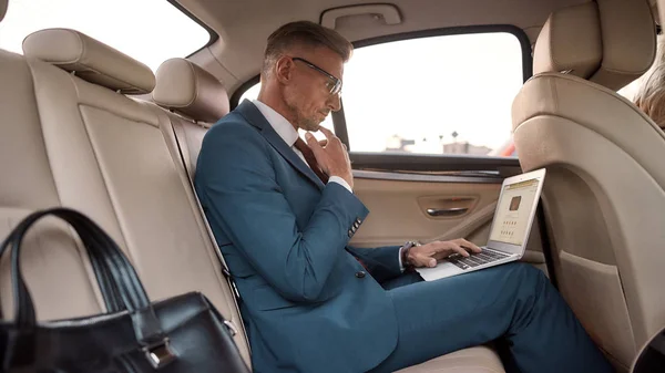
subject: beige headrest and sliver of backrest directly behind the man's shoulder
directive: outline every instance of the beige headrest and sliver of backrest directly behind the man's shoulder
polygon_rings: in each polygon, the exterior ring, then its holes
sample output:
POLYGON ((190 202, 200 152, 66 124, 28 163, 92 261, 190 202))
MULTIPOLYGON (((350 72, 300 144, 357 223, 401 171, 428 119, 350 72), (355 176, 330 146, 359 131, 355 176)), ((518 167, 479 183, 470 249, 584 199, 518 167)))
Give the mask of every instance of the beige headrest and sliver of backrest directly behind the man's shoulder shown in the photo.
POLYGON ((157 69, 153 101, 177 115, 170 115, 183 148, 190 176, 207 128, 228 114, 228 94, 211 73, 185 59, 171 59, 157 69))

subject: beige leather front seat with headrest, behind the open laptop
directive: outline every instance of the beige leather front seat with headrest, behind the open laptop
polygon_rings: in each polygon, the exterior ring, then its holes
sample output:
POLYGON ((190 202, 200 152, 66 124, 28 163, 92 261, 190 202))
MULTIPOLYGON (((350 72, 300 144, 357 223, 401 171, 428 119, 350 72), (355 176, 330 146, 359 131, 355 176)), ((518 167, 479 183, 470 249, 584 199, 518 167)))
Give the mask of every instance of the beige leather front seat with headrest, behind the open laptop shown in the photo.
POLYGON ((665 324, 665 134, 616 90, 654 60, 646 0, 550 15, 514 100, 524 172, 544 167, 559 288, 617 367, 665 324))

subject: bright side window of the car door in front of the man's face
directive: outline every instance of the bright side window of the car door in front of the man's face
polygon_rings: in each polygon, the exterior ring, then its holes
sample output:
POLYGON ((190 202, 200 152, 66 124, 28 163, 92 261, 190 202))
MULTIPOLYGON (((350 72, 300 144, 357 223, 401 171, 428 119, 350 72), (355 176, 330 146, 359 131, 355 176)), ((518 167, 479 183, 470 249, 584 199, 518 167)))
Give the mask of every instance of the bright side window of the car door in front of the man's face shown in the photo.
POLYGON ((523 70, 511 33, 358 48, 344 79, 351 152, 512 154, 511 105, 523 70))

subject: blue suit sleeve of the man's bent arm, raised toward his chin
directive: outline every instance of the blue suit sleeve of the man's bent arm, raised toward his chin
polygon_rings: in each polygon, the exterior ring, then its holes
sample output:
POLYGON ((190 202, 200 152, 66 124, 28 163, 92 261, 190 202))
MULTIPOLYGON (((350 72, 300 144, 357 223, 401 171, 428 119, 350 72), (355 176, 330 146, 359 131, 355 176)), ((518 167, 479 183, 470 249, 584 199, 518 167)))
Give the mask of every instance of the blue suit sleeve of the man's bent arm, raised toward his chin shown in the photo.
POLYGON ((283 297, 317 301, 339 257, 348 227, 367 208, 330 183, 301 231, 275 178, 268 144, 253 127, 212 128, 204 138, 196 189, 233 245, 283 297), (221 131, 222 129, 222 131, 221 131))

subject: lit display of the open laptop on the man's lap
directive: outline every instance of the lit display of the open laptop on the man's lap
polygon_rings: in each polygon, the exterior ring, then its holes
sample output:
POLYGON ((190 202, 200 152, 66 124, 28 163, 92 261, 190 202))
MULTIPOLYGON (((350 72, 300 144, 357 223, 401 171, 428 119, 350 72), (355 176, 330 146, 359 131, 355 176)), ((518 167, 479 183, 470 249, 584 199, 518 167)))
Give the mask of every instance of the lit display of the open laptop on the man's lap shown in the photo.
POLYGON ((503 187, 490 241, 522 246, 536 203, 538 183, 538 179, 530 179, 503 187))

